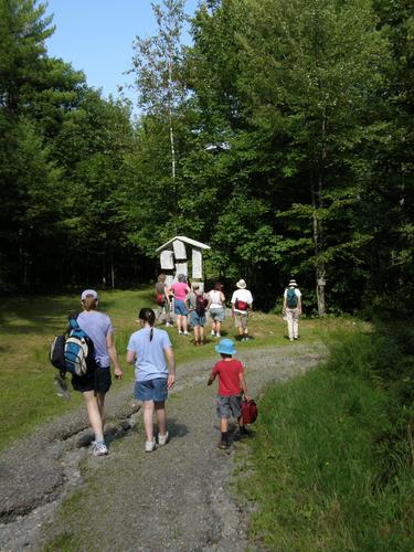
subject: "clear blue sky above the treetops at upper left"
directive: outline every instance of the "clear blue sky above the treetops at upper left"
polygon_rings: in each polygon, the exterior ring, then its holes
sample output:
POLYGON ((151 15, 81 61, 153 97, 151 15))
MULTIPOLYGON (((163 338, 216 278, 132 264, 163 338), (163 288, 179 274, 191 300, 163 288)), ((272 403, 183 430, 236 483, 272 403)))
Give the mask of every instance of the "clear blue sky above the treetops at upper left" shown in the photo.
MULTIPOLYGON (((49 39, 50 56, 62 57, 84 71, 89 86, 116 97, 117 86, 128 82, 132 42, 156 33, 150 0, 49 0, 55 33, 49 39)), ((192 14, 198 0, 187 0, 192 14)), ((189 39, 187 38, 187 41, 189 39)))

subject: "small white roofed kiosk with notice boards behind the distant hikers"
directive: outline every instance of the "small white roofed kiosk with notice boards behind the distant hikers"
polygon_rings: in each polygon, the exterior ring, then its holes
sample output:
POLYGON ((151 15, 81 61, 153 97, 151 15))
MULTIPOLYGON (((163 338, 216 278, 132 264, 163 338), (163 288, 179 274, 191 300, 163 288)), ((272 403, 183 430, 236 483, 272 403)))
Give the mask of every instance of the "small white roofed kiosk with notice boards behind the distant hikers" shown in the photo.
POLYGON ((202 252, 211 247, 187 236, 172 237, 157 250, 157 253, 160 254, 161 270, 167 274, 166 284, 171 286, 178 280, 179 274, 189 276, 189 258, 185 245, 191 246, 191 283, 197 282, 200 284, 200 289, 204 290, 202 252))

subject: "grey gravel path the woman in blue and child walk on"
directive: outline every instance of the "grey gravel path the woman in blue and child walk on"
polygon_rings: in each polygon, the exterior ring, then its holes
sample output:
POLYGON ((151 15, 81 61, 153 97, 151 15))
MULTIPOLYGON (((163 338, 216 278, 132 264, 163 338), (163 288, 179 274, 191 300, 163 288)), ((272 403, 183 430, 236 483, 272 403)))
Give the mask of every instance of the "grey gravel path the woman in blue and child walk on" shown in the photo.
MULTIPOLYGON (((238 349, 252 396, 325 354, 322 347, 304 344, 238 349)), ((91 457, 84 410, 7 449, 0 456, 0 550, 42 550, 51 540, 55 550, 246 549, 245 514, 229 486, 236 446, 215 446, 211 367, 211 360, 178 367, 167 405, 171 440, 155 453, 144 452, 139 405, 129 388, 108 394, 107 457, 91 457), (76 498, 66 503, 74 490, 76 498)))

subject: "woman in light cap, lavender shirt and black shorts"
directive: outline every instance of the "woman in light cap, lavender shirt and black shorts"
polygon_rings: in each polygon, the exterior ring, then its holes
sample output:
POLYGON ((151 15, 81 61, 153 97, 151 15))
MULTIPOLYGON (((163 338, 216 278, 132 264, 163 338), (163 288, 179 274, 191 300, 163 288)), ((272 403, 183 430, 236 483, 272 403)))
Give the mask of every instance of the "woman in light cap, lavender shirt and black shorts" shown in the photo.
POLYGON ((110 363, 114 364, 115 378, 123 379, 124 372, 120 368, 115 348, 114 328, 110 318, 98 312, 98 294, 95 289, 85 289, 81 295, 83 311, 76 317, 82 330, 94 343, 95 373, 91 376, 72 376, 72 386, 79 391, 85 400, 87 415, 91 426, 95 433, 92 452, 94 456, 108 454, 104 440, 105 424, 105 395, 109 391, 110 363))

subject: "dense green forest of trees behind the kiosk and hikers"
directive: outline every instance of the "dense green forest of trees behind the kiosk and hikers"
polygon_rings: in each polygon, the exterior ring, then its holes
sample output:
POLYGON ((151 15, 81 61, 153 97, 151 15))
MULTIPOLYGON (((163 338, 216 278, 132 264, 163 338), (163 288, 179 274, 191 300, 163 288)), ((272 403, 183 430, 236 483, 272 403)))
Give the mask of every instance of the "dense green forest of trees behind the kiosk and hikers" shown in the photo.
POLYGON ((187 234, 263 309, 294 276, 308 314, 412 310, 412 3, 205 0, 190 46, 183 0, 155 12, 134 117, 0 0, 1 291, 145 283, 187 234))

